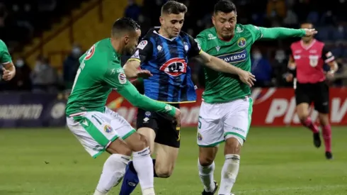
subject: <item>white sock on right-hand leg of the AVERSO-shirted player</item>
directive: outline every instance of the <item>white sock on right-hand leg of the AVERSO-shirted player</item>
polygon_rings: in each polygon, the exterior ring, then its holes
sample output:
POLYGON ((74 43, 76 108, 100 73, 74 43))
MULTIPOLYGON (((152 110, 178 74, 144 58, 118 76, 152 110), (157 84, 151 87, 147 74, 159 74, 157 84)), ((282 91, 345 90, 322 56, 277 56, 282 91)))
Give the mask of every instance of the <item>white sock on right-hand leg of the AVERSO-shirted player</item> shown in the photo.
POLYGON ((218 194, 230 194, 234 185, 237 174, 239 173, 240 156, 225 155, 225 162, 222 168, 222 179, 218 194))

